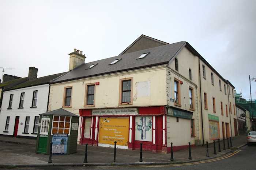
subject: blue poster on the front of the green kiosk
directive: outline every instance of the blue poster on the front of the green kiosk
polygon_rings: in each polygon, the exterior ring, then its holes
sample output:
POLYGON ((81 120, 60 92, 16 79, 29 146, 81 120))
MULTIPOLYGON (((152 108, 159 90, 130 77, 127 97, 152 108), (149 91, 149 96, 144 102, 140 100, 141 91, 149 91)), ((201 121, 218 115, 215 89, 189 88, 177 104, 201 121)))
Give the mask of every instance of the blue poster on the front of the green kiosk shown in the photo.
POLYGON ((67 154, 68 134, 53 134, 52 137, 52 154, 67 154))

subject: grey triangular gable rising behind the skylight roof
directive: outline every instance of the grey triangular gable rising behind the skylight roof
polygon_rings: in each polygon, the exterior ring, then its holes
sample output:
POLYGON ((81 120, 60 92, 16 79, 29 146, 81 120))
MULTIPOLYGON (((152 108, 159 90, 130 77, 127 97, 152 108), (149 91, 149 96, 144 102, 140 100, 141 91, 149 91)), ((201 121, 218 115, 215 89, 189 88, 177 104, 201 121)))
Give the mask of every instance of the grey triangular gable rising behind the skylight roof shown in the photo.
POLYGON ((166 43, 164 41, 160 41, 142 34, 135 41, 133 41, 131 45, 125 48, 125 50, 121 52, 121 54, 119 55, 127 54, 129 52, 134 52, 134 51, 145 50, 148 48, 163 46, 166 44, 169 44, 169 43, 166 43))

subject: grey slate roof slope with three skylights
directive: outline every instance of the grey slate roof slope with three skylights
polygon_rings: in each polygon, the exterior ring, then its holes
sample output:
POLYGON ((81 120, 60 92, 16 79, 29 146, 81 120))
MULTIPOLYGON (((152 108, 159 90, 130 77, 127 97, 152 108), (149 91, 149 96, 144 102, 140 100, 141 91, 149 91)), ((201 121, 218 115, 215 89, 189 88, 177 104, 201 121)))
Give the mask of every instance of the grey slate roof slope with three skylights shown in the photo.
POLYGON ((185 41, 180 41, 173 44, 167 44, 159 47, 149 48, 146 50, 140 50, 135 52, 130 52, 123 55, 118 55, 111 58, 106 58, 90 63, 82 64, 76 67, 74 70, 68 72, 67 74, 61 76, 52 81, 52 83, 65 82, 68 80, 75 80, 80 78, 86 78, 91 76, 98 76, 103 74, 110 74, 114 72, 135 70, 139 68, 146 68, 151 66, 159 66, 162 64, 167 64, 169 61, 176 56, 178 51, 184 47, 185 41), (140 55, 144 53, 149 54, 142 59, 137 59, 140 55), (112 63, 115 59, 121 59, 115 64, 112 63), (94 67, 88 69, 91 65, 97 64, 94 67))

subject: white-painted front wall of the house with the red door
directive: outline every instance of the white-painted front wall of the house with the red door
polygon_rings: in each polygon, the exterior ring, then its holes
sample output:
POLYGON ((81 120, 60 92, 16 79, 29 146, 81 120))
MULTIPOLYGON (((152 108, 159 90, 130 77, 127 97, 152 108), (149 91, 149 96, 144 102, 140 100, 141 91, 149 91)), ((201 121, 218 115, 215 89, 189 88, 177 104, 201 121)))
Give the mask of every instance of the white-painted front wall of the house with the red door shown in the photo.
POLYGON ((4 135, 13 135, 14 133, 14 124, 15 124, 15 116, 19 116, 19 126, 18 126, 18 134, 19 136, 29 136, 29 137, 37 137, 33 133, 34 127, 34 118, 35 116, 39 116, 39 114, 46 112, 47 102, 48 102, 48 92, 49 92, 49 84, 44 84, 40 86, 26 87, 20 88, 11 91, 3 92, 3 103, 2 110, 0 114, 0 134, 4 135), (32 105, 33 91, 38 90, 37 94, 37 107, 30 108, 32 105), (25 92, 23 109, 18 109, 20 94, 25 92), (7 109, 9 106, 10 94, 14 94, 12 101, 12 109, 7 109), (7 116, 10 116, 10 123, 8 133, 3 133, 5 129, 5 122, 7 116), (25 119, 26 116, 30 116, 29 122, 29 134, 22 134, 25 128, 25 119), (21 125, 22 123, 22 125, 21 125))

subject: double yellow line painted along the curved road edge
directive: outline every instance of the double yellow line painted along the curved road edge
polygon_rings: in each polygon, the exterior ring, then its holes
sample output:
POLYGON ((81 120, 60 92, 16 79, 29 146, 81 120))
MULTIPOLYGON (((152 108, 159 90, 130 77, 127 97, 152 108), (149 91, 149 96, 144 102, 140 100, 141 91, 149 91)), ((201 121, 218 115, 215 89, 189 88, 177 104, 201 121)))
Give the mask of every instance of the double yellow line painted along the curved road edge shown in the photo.
MULTIPOLYGON (((214 161, 219 161, 222 159, 226 159, 229 157, 232 157, 234 155, 236 155, 237 153, 239 153, 242 150, 237 150, 234 151, 233 153, 230 153, 228 155, 225 155, 223 157, 218 157, 218 158, 213 158, 213 159, 208 159, 205 161, 198 161, 198 162, 191 162, 191 163, 177 163, 177 164, 169 164, 169 165, 136 165, 136 166, 121 166, 126 167, 126 168, 135 168, 135 167, 172 167, 172 166, 187 166, 187 165, 197 165, 197 164, 201 164, 201 163, 208 163, 208 162, 214 162, 214 161)), ((120 166, 104 166, 105 168, 111 167, 111 168, 119 168, 120 166)))

